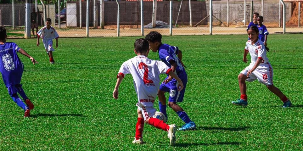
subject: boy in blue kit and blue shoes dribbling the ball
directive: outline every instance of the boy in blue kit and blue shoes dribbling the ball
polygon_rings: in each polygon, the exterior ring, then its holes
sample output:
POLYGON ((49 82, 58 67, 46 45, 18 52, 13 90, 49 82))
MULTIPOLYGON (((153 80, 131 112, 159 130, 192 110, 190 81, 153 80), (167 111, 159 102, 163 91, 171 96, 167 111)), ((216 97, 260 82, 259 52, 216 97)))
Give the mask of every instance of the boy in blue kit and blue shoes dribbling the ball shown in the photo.
MULTIPOLYGON (((185 122, 185 124, 178 130, 195 130, 196 124, 189 119, 186 112, 177 104, 177 102, 182 102, 184 97, 184 92, 187 83, 187 74, 183 68, 182 63, 182 52, 178 47, 170 46, 168 44, 163 44, 161 42, 162 35, 157 31, 151 31, 145 36, 145 39, 149 42, 149 47, 153 52, 159 50, 159 58, 168 67, 170 67, 173 72, 177 73, 178 77, 182 80, 184 88, 182 91, 178 91, 177 81, 171 76, 167 76, 166 79, 160 85, 158 90, 159 98, 159 109, 166 117, 166 98, 165 92, 169 92, 168 106, 173 109, 177 115, 185 122)), ((184 66, 185 67, 185 66, 184 66)))

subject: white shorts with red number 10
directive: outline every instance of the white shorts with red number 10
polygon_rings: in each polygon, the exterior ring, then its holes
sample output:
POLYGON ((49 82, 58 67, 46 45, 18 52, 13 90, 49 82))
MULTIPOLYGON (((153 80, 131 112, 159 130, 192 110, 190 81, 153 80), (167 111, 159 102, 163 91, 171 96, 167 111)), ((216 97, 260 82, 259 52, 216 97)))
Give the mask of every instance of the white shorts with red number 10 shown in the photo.
MULTIPOLYGON (((247 72, 252 69, 254 65, 250 64, 246 68, 244 68, 240 73, 247 75, 247 72)), ((258 79, 260 83, 263 83, 267 86, 272 85, 272 66, 269 64, 269 62, 265 64, 261 64, 249 75, 249 78, 246 79, 246 81, 255 81, 258 79)))

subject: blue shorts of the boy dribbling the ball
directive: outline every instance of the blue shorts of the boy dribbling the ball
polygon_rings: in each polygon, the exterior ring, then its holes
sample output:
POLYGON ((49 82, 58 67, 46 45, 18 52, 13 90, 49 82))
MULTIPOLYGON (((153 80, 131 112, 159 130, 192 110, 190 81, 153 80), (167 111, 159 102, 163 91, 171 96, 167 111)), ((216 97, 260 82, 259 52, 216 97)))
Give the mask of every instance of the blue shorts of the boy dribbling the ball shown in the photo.
MULTIPOLYGON (((166 77, 165 79, 167 79, 168 77, 166 77)), ((165 92, 169 92, 169 98, 168 98, 168 102, 182 102, 183 101, 183 97, 184 97, 184 92, 185 92, 185 88, 186 88, 186 83, 187 83, 187 76, 181 79, 183 82, 183 86, 184 88, 181 91, 178 91, 177 88, 177 80, 176 79, 172 79, 171 81, 169 81, 168 83, 162 83, 160 85, 160 90, 161 91, 165 91, 165 92)))

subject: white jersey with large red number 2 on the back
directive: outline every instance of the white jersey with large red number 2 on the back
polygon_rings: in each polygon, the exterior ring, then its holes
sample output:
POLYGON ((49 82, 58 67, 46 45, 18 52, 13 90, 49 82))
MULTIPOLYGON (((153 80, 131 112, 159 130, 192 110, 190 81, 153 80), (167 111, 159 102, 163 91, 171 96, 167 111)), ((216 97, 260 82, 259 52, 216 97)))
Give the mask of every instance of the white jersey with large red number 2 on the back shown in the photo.
POLYGON ((160 86, 159 75, 168 73, 170 70, 171 68, 162 61, 151 60, 139 55, 125 61, 121 65, 118 75, 121 74, 124 77, 125 74, 132 74, 138 103, 143 106, 154 106, 160 86))

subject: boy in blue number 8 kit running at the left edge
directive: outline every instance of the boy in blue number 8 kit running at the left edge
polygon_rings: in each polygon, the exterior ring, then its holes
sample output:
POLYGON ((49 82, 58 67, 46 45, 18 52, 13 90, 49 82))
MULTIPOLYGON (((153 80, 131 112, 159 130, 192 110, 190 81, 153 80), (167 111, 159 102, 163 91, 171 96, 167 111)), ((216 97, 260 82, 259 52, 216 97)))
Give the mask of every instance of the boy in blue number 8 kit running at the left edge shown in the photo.
POLYGON ((26 53, 23 49, 19 48, 14 42, 6 42, 6 30, 3 26, 0 26, 0 57, 3 64, 0 64, 0 72, 3 78, 3 82, 8 89, 8 94, 14 100, 14 102, 24 109, 24 117, 30 116, 30 109, 34 108, 33 103, 27 98, 25 92, 20 84, 23 64, 19 59, 17 52, 25 55, 31 59, 33 64, 38 62, 26 53), (19 98, 19 95, 23 98, 26 105, 19 98))

